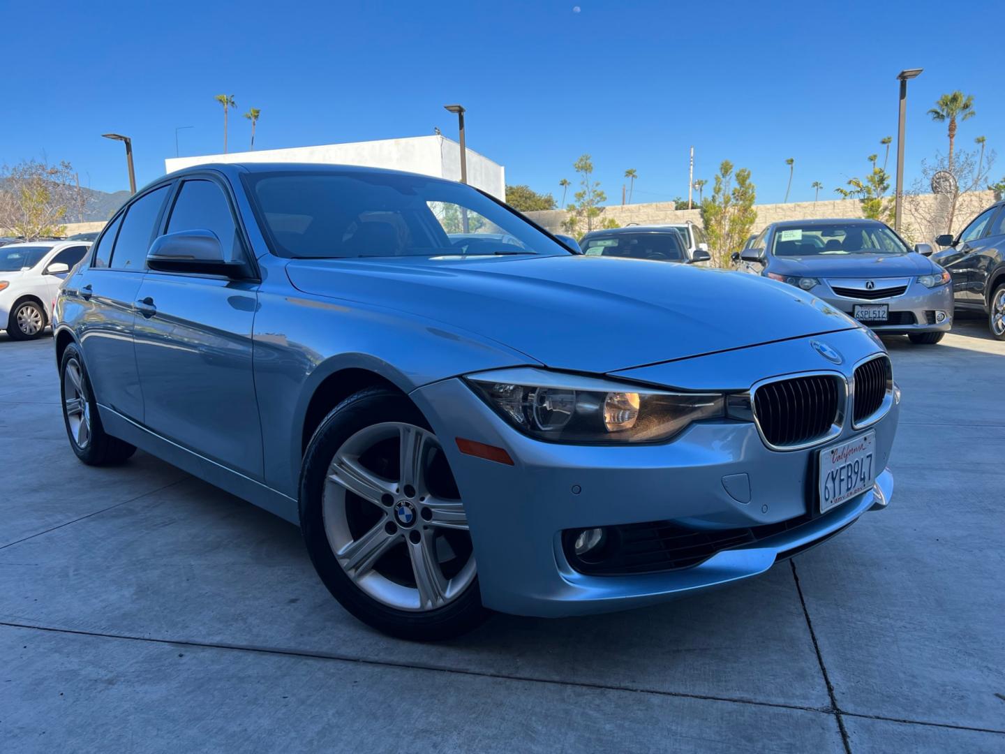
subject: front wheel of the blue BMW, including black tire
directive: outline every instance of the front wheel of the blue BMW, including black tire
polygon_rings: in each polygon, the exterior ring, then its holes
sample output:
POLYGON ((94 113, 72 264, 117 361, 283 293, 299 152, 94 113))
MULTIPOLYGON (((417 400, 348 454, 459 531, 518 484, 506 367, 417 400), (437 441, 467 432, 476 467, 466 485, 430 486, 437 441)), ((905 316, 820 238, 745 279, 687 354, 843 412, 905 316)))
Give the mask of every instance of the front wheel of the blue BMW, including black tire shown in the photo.
POLYGON ((369 388, 325 417, 304 458, 299 509, 318 575, 363 622, 430 641, 488 615, 446 455, 401 393, 369 388))

